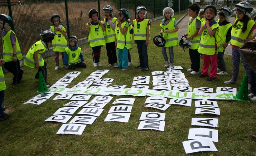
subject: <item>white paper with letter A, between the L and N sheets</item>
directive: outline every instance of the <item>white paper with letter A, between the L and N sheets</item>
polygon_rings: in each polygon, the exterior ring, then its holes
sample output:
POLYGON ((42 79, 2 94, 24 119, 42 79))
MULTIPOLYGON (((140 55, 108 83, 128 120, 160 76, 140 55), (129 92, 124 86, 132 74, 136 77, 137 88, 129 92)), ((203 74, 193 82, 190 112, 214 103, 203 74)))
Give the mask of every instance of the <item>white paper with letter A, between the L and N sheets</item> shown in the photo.
POLYGON ((217 118, 192 118, 191 125, 218 127, 219 123, 217 118))

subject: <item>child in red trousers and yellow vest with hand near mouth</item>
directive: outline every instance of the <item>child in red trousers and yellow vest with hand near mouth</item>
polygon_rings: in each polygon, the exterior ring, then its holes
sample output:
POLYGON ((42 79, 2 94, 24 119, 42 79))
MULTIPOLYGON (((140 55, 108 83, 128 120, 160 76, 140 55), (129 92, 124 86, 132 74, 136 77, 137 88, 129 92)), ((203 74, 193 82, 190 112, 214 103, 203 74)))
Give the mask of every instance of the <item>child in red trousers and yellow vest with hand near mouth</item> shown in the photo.
POLYGON ((211 61, 211 70, 209 77, 206 79, 207 82, 217 79, 217 48, 219 47, 221 38, 218 36, 218 23, 214 20, 216 15, 216 7, 214 5, 207 5, 204 8, 206 20, 202 22, 202 27, 198 32, 201 36, 198 52, 203 54, 203 69, 202 73, 197 77, 202 78, 208 76, 208 68, 211 61))

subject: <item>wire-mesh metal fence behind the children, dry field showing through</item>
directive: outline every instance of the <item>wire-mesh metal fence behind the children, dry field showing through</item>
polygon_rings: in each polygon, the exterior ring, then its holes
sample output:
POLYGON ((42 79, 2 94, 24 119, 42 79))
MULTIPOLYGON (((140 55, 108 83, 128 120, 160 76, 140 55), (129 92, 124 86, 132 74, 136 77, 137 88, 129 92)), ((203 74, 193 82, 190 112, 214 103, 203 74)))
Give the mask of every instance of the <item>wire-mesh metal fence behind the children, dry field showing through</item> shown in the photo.
MULTIPOLYGON (((86 23, 88 22, 88 11, 92 8, 100 11, 101 19, 104 18, 102 8, 105 5, 111 5, 114 8, 113 15, 115 17, 117 17, 118 9, 126 8, 130 12, 130 19, 133 20, 136 18, 135 10, 139 5, 144 5, 147 8, 146 18, 148 19, 162 16, 162 10, 168 6, 168 0, 20 0, 20 3, 15 3, 17 0, 8 1, 11 1, 9 7, 6 5, 7 0, 0 1, 0 14, 12 15, 14 31, 23 55, 28 52, 34 42, 40 40, 39 34, 42 31, 50 29, 52 25, 50 15, 54 13, 61 16, 61 25, 66 30, 68 30, 68 26, 69 35, 76 35, 81 39, 88 36, 86 23), (67 14, 68 16, 66 16, 67 14)), ((187 9, 189 1, 180 1, 180 10, 187 9)), ((173 0, 172 8, 175 12, 179 11, 178 0, 173 0)), ((2 48, 0 38, 0 52, 3 51, 2 48)))

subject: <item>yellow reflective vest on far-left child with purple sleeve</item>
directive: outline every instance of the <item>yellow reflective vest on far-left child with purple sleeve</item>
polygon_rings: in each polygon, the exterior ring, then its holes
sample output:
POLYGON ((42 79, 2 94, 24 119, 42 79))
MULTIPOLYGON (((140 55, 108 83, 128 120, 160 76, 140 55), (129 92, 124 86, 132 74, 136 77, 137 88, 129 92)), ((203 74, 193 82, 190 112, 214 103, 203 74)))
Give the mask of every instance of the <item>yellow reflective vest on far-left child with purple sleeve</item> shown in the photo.
POLYGON ((15 45, 16 45, 16 57, 18 60, 22 60, 22 54, 20 50, 20 45, 18 42, 18 39, 16 37, 16 34, 14 33, 13 30, 9 30, 2 39, 3 43, 3 57, 5 62, 11 62, 13 61, 13 45, 11 44, 11 33, 15 35, 15 45))

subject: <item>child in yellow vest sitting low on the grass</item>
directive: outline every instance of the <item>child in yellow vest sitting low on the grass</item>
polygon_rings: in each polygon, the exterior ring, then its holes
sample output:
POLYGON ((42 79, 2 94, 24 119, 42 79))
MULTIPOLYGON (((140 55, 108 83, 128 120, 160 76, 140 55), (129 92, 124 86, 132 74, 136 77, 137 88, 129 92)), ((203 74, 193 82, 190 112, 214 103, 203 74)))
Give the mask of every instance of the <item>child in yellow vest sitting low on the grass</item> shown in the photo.
POLYGON ((77 47, 78 39, 76 36, 69 36, 68 47, 65 49, 64 64, 66 69, 76 69, 77 67, 86 68, 83 60, 81 48, 77 47))

